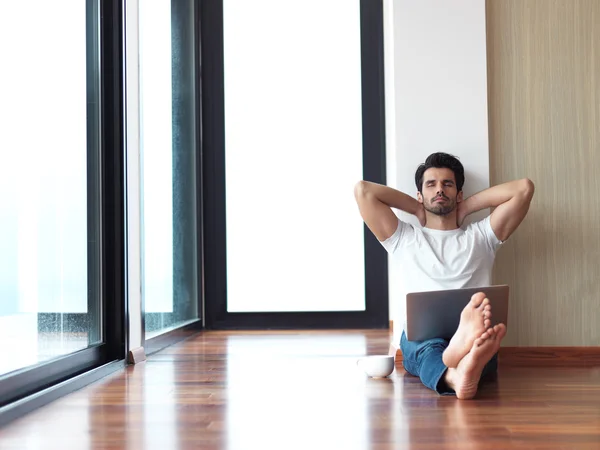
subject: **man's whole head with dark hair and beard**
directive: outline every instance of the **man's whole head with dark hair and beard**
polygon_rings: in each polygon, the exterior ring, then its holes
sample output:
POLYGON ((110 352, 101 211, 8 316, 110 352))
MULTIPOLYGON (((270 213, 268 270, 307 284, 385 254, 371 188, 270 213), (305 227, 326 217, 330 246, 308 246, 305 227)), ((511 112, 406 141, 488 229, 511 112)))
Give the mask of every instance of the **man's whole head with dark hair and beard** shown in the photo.
POLYGON ((464 182, 465 169, 457 158, 433 153, 415 173, 417 199, 430 213, 446 216, 462 201, 464 182))

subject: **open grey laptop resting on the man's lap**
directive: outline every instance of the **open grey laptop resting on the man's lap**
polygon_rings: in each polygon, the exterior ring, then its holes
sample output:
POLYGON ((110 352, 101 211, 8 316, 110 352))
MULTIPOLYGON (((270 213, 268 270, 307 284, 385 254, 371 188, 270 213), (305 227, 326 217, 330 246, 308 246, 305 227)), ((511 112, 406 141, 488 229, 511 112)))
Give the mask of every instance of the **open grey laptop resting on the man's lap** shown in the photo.
POLYGON ((484 292, 490 300, 492 326, 508 326, 508 285, 414 292, 406 296, 406 338, 449 340, 458 329, 460 313, 477 292, 484 292))

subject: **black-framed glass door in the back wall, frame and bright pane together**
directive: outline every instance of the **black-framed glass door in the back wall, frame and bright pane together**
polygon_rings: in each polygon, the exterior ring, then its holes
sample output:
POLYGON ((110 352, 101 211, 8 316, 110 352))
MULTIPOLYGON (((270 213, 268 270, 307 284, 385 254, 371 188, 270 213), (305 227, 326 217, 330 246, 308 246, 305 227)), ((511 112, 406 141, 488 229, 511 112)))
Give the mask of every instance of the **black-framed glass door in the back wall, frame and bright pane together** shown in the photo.
POLYGON ((387 326, 387 257, 353 194, 384 182, 381 2, 203 19, 207 325, 387 326))

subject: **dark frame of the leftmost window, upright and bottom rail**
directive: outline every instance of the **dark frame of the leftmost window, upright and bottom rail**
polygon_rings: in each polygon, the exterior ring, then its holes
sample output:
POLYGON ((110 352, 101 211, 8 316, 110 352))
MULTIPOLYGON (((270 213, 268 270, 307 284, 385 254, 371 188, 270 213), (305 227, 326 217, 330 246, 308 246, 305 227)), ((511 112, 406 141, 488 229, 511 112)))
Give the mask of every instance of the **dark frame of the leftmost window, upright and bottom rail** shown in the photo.
POLYGON ((101 316, 102 341, 0 377, 0 424, 57 398, 57 395, 77 389, 86 382, 81 378, 86 373, 94 372, 86 378, 90 382, 124 366, 127 311, 122 3, 120 0, 86 0, 88 125, 94 121, 100 125, 99 128, 88 126, 88 201, 100 201, 101 215, 98 217, 97 203, 88 205, 88 230, 99 232, 101 240, 100 255, 94 247, 88 256, 91 275, 88 289, 93 290, 88 298, 99 300, 94 302, 88 314, 101 316), (97 76, 100 76, 99 91, 95 89, 95 83, 89 84, 97 76), (90 87, 94 87, 91 96, 90 87), (100 176, 99 180, 91 178, 96 174, 100 176), (90 192, 90 186, 99 186, 100 192, 90 192), (100 267, 97 267, 98 263, 100 267), (101 274, 97 280, 99 284, 96 283, 98 271, 101 274), (61 385, 75 378, 78 382, 70 387, 61 385))

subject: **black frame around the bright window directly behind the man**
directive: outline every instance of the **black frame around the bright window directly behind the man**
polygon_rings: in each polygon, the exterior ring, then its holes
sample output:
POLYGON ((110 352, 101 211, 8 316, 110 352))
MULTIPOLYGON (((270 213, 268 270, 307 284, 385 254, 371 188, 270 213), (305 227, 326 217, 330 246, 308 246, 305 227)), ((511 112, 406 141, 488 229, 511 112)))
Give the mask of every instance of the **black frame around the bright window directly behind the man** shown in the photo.
MULTIPOLYGON (((366 225, 364 311, 227 311, 223 0, 201 2, 201 8, 206 328, 388 328, 387 253, 366 225)), ((386 183, 383 23, 382 0, 360 0, 363 178, 381 184, 386 183)))

